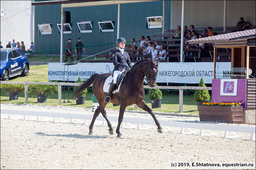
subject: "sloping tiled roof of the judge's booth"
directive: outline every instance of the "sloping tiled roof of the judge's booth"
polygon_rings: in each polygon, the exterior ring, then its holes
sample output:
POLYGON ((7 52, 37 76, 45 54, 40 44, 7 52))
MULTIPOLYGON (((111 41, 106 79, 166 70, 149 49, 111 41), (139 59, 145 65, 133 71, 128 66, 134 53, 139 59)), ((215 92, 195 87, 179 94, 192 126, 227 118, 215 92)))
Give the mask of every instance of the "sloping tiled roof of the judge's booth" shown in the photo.
POLYGON ((213 43, 213 42, 232 42, 245 40, 256 37, 256 29, 250 29, 246 31, 230 32, 226 34, 220 34, 210 37, 198 38, 194 40, 187 41, 189 44, 196 43, 213 43))

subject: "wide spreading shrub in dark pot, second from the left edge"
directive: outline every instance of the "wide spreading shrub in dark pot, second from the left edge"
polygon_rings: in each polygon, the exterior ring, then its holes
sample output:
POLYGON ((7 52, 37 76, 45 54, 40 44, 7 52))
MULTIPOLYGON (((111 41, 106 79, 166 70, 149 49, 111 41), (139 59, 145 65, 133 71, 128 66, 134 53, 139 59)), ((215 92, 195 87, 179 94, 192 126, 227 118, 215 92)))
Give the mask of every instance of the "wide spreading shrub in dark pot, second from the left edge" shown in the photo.
MULTIPOLYGON (((39 81, 34 81, 39 82, 39 81)), ((58 90, 56 85, 47 85, 47 84, 30 84, 29 91, 34 92, 37 95, 37 103, 47 102, 47 95, 58 90)))

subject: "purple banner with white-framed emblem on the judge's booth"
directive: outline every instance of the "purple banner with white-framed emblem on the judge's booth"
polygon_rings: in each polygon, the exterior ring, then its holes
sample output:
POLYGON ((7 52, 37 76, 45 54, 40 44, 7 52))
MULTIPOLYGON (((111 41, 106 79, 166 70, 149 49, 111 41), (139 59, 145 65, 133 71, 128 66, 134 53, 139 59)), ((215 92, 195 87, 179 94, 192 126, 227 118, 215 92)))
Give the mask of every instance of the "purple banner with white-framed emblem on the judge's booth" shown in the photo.
POLYGON ((212 79, 212 102, 238 103, 241 102, 243 109, 246 108, 246 79, 223 81, 223 79, 212 79), (223 83, 223 84, 221 84, 223 83), (223 87, 223 88, 221 88, 223 87), (236 95, 234 95, 236 91, 236 95), (223 95, 225 93, 225 95, 223 95), (229 95, 230 94, 230 95, 229 95))

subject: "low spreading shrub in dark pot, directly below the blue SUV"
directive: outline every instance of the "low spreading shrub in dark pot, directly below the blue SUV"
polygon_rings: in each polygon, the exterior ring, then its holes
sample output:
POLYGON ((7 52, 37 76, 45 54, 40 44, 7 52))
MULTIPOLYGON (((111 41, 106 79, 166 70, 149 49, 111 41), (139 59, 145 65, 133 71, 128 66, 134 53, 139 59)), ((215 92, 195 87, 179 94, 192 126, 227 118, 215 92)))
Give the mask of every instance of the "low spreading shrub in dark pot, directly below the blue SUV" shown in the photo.
POLYGON ((18 100, 19 92, 24 92, 24 84, 1 84, 1 88, 9 92, 9 100, 18 100))

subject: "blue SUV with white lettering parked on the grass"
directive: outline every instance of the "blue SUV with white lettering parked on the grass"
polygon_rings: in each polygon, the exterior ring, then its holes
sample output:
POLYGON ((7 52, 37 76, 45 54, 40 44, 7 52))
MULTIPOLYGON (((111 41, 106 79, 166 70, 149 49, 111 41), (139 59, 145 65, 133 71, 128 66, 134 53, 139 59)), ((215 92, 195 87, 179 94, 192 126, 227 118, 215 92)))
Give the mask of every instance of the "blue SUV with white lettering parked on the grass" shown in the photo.
POLYGON ((29 60, 20 48, 1 48, 1 80, 9 77, 29 75, 29 60))

